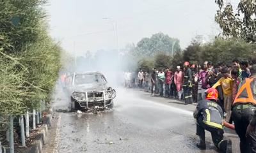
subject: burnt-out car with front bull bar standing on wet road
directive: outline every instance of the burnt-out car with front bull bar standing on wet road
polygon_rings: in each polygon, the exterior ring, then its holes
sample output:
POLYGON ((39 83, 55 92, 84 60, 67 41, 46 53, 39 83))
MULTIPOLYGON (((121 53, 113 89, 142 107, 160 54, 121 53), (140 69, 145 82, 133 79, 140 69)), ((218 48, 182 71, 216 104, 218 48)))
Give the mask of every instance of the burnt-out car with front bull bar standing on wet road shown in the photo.
POLYGON ((116 91, 100 72, 74 73, 65 80, 71 110, 113 108, 116 91))

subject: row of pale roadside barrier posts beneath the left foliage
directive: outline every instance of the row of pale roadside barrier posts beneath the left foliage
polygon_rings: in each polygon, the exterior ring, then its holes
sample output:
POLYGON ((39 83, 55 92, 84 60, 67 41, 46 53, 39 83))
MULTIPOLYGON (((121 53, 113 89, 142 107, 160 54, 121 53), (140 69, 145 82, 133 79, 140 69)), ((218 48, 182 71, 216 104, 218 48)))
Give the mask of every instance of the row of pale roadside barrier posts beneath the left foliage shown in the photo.
POLYGON ((45 100, 41 100, 40 105, 38 110, 27 109, 26 113, 21 115, 0 116, 0 153, 15 152, 14 131, 19 136, 20 146, 26 147, 29 129, 35 130, 36 126, 42 123, 42 112, 46 110, 45 100), (29 120, 32 121, 32 127, 29 126, 29 120), (8 145, 3 142, 8 142, 8 145))

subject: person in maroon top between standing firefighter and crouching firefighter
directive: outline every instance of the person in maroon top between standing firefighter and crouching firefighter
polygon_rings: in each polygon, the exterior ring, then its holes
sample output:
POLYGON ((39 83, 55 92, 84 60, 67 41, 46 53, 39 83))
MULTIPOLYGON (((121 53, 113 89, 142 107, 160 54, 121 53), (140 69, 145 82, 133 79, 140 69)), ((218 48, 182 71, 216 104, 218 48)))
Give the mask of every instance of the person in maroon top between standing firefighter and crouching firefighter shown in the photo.
POLYGON ((208 62, 205 61, 204 62, 204 66, 203 66, 203 70, 200 72, 199 74, 199 78, 202 82, 202 85, 201 85, 201 94, 202 94, 202 99, 205 98, 205 91, 210 87, 209 84, 207 84, 207 70, 208 70, 208 62))

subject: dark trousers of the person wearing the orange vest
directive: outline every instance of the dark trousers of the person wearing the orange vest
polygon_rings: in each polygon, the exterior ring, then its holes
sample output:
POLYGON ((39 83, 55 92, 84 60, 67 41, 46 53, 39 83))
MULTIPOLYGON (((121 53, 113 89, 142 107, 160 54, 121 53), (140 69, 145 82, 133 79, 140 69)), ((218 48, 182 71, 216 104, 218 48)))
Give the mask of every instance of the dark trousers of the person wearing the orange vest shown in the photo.
POLYGON ((251 108, 247 109, 232 109, 232 119, 235 123, 236 133, 240 138, 240 151, 241 153, 256 152, 256 133, 253 135, 245 136, 246 129, 250 124, 250 120, 253 117, 253 111, 251 108))

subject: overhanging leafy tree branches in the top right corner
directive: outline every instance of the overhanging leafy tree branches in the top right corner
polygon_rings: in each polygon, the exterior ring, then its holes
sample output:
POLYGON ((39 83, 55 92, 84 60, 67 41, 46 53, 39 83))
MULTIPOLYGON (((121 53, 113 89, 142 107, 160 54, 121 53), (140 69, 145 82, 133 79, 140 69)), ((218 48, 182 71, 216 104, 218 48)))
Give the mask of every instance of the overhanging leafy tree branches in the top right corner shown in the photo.
POLYGON ((219 10, 215 15, 216 22, 227 38, 243 38, 247 42, 256 42, 256 1, 241 0, 234 11, 231 4, 215 0, 219 10))

